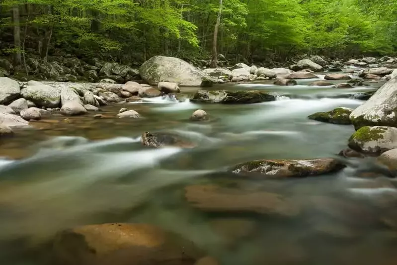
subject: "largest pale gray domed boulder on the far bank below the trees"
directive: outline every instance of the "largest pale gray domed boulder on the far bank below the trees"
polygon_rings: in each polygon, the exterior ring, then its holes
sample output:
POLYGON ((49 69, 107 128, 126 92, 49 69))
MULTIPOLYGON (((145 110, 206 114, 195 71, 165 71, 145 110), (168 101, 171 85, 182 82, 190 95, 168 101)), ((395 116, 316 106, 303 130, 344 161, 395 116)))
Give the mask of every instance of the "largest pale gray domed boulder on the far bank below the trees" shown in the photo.
POLYGON ((179 86, 198 87, 202 85, 203 79, 211 80, 203 71, 174 57, 154 56, 146 61, 139 71, 141 77, 151 85, 172 82, 179 86))

